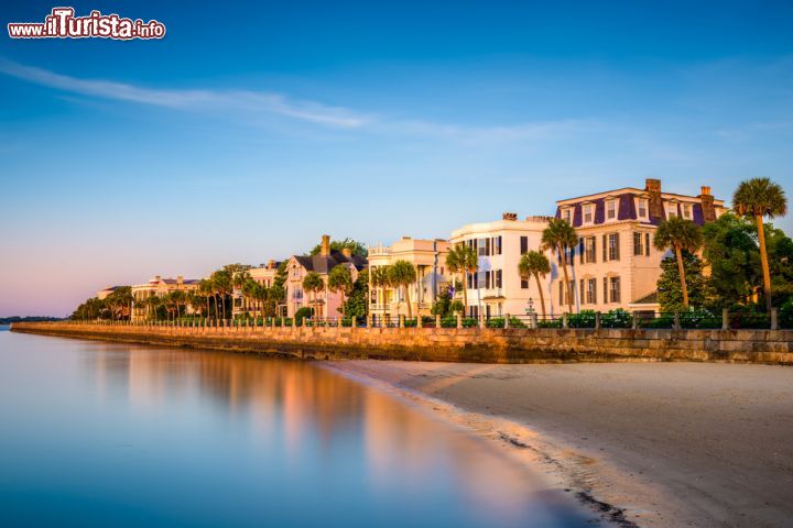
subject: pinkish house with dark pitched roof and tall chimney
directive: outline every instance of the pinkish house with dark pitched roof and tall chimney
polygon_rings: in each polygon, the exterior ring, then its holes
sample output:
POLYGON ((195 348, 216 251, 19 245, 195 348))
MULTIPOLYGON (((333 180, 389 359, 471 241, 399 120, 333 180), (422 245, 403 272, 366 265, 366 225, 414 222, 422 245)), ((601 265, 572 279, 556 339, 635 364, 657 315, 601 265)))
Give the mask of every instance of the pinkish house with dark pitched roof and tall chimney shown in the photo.
POLYGON ((350 250, 332 251, 330 237, 324 234, 319 245, 319 253, 316 255, 293 255, 286 265, 286 317, 294 317, 301 308, 314 308, 315 317, 336 318, 341 317, 341 305, 344 296, 340 292, 332 292, 327 287, 328 275, 336 266, 349 268, 355 282, 358 273, 367 266, 367 260, 360 255, 354 255, 350 250), (304 292, 303 279, 308 273, 315 272, 325 283, 325 288, 316 294, 304 292))

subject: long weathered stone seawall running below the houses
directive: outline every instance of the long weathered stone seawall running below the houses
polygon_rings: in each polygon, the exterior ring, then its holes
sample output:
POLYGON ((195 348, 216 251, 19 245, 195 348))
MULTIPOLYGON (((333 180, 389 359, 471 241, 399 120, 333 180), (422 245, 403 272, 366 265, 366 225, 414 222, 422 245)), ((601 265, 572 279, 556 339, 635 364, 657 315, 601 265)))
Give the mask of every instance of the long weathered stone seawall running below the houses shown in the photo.
POLYGON ((28 322, 15 332, 316 360, 725 361, 793 365, 791 330, 192 328, 28 322))

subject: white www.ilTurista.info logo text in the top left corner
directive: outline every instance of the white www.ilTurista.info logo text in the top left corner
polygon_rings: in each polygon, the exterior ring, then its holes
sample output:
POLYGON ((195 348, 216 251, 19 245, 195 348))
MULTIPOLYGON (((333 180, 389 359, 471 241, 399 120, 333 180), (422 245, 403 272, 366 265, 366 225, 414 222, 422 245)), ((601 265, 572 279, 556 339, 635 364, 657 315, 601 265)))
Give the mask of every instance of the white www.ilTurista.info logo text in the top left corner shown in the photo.
POLYGON ((122 19, 118 14, 91 11, 88 16, 75 16, 74 8, 53 8, 44 22, 14 22, 9 25, 11 38, 162 38, 165 24, 156 20, 122 19))

